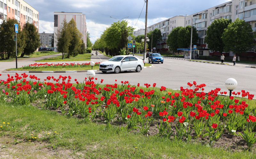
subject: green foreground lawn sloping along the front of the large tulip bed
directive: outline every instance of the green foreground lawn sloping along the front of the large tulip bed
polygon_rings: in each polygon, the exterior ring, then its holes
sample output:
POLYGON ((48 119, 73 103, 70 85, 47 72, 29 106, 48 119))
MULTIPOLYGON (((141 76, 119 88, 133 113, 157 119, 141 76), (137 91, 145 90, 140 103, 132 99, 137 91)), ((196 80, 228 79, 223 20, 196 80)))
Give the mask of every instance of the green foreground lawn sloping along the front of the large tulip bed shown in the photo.
MULTIPOLYGON (((253 158, 250 152, 232 152, 222 148, 203 146, 199 143, 174 141, 158 136, 121 131, 120 128, 86 122, 67 117, 51 110, 40 110, 34 106, 20 106, 1 102, 0 123, 9 122, 1 136, 10 134, 15 139, 26 139, 33 134, 36 140, 50 149, 68 148, 84 158, 253 158), (54 133, 56 131, 57 133, 54 133), (50 133, 52 136, 47 136, 50 133), (137 147, 137 148, 136 148, 137 147)), ((22 142, 29 142, 24 140, 22 142)), ((34 142, 34 141, 32 141, 34 142)), ((14 139, 10 144, 14 143, 14 139)), ((40 149, 38 149, 40 151, 40 149)))

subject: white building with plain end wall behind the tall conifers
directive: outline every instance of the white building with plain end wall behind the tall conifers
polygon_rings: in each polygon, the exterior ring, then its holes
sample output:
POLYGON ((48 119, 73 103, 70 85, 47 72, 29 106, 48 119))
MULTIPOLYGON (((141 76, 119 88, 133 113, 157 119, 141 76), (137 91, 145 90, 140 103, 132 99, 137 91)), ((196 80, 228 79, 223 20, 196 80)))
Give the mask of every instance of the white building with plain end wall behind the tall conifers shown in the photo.
MULTIPOLYGON (((66 20, 67 22, 69 22, 72 18, 76 22, 76 28, 83 35, 83 42, 86 48, 87 29, 86 29, 85 14, 73 13, 73 12, 54 12, 54 37, 57 37, 56 34, 60 29, 63 20, 66 20)), ((56 39, 54 39, 54 51, 57 51, 56 39)))

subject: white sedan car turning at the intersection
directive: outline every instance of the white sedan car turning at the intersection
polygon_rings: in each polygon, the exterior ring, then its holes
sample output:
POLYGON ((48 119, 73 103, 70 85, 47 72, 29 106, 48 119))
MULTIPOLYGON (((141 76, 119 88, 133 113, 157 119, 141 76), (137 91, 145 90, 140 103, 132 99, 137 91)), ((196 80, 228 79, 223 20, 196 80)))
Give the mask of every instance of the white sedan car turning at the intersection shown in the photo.
POLYGON ((104 61, 100 63, 100 71, 103 73, 106 72, 115 72, 116 74, 121 71, 130 71, 135 70, 136 72, 140 72, 142 68, 144 68, 143 60, 140 60, 137 57, 130 55, 118 55, 114 56, 108 61, 104 61))

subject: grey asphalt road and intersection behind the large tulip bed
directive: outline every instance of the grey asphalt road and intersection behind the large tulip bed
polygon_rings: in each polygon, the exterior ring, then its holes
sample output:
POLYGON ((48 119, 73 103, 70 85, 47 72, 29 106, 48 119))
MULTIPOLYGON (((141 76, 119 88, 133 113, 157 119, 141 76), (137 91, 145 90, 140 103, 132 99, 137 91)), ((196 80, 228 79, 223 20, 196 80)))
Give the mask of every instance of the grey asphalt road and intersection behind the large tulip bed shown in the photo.
MULTIPOLYGON (((138 56, 137 56, 138 57, 138 56)), ((140 57, 142 59, 142 57, 140 57)), ((98 56, 92 56, 91 61, 102 62, 108 60, 98 53, 98 56)), ((146 59, 148 60, 148 59, 146 59)), ((76 63, 84 63, 89 61, 79 61, 76 63)), ((30 64, 33 62, 31 61, 30 64)), ((2 63, 0 63, 2 65, 2 63)), ((15 66, 15 65, 14 65, 15 66)), ((164 63, 154 63, 152 68, 144 68, 140 73, 135 71, 121 72, 120 74, 114 73, 102 73, 96 72, 96 78, 98 82, 103 79, 103 84, 121 84, 121 81, 129 81, 132 85, 143 86, 144 83, 153 85, 156 83, 156 87, 165 86, 171 89, 180 89, 180 86, 187 88, 187 83, 193 83, 196 81, 197 84, 206 84, 205 92, 214 90, 215 88, 221 88, 221 91, 227 91, 224 83, 228 78, 235 78, 238 85, 234 91, 249 91, 250 94, 256 95, 256 69, 246 68, 246 65, 218 65, 212 63, 200 63, 192 62, 187 60, 176 60, 176 59, 164 59, 164 63), (117 80, 117 81, 115 81, 117 80)), ((248 66, 248 65, 247 65, 248 66)), ((6 80, 8 73, 0 73, 0 79, 6 80)), ((15 73, 9 73, 14 76, 15 73)), ((19 73, 21 74, 21 73, 19 73)), ((28 73, 30 75, 31 73, 28 73)), ((86 77, 86 73, 33 73, 38 78, 46 79, 47 76, 59 77, 71 76, 71 82, 77 79, 79 82, 83 82, 86 77)), ((96 81, 96 83, 98 83, 96 81)))

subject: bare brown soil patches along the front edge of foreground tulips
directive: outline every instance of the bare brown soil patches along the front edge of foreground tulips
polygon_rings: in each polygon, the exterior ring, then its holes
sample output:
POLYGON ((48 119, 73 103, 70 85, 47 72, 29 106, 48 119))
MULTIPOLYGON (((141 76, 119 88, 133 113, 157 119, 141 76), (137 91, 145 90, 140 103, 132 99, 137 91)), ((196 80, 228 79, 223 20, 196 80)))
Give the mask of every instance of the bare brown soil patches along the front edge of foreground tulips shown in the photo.
MULTIPOLYGON (((39 103, 44 103, 45 101, 40 101, 39 103)), ((38 105, 38 102, 34 102, 34 103, 31 103, 31 105, 41 109, 41 106, 38 105)), ((103 105, 102 108, 104 108, 105 106, 103 105)), ((58 109, 54 109, 54 108, 50 108, 52 111, 56 111, 57 113, 61 114, 61 110, 58 108, 58 109)), ((68 110, 68 107, 66 108, 68 110)), ((67 111, 66 110, 66 111, 67 111)), ((80 115, 75 115, 74 117, 77 117, 77 118, 81 118, 80 115)), ((113 122, 110 122, 112 126, 117 126, 119 128, 121 127, 125 127, 127 124, 126 123, 123 123, 122 121, 118 121, 118 116, 113 120, 113 122)), ((121 117, 120 117, 121 118, 121 117)), ((96 117, 94 120, 92 120, 92 122, 94 123, 97 123, 97 124, 106 124, 105 122, 105 119, 103 117, 96 117)), ((155 119, 154 122, 151 123, 150 125, 150 128, 149 128, 149 131, 147 134, 145 134, 146 136, 153 136, 153 135, 158 135, 159 133, 159 130, 157 128, 157 124, 160 125, 160 119, 155 119)), ((179 123, 177 121, 174 121, 172 123, 172 131, 173 131, 173 134, 176 134, 176 128, 175 128, 175 125, 178 125, 179 123)), ((141 125, 138 125, 139 127, 141 127, 141 125)), ((192 125, 190 125, 190 128, 192 127, 192 125)), ((130 130, 131 133, 140 133, 140 130, 139 128, 138 129, 133 129, 133 130, 130 130)), ((229 151, 233 151, 233 152, 242 152, 242 151, 245 151, 248 149, 248 146, 246 145, 246 142, 245 140, 241 137, 241 136, 238 136, 238 132, 236 132, 236 135, 232 135, 232 134, 229 134, 226 129, 225 129, 225 132, 223 132, 222 136, 220 139, 218 139, 217 141, 214 141, 213 144, 212 144, 212 147, 216 147, 216 148, 224 148, 226 150, 229 150, 229 151)), ((240 131, 242 132, 242 131, 240 131)), ((205 132, 204 132, 205 133, 205 132)), ((196 134, 195 134, 195 131, 192 130, 191 132, 191 136, 192 136, 192 139, 191 141, 189 141, 190 143, 200 143, 202 145, 205 145, 205 146, 209 146, 209 137, 206 136, 204 138, 196 138, 196 134)), ((173 139, 173 137, 172 137, 173 139)), ((185 137, 182 139, 182 141, 185 141, 186 142, 186 139, 185 137)), ((256 147, 252 147, 251 149, 252 152, 256 152, 256 147)))

